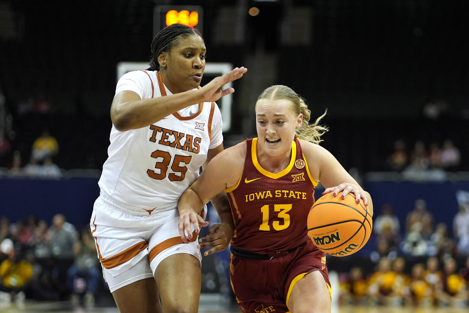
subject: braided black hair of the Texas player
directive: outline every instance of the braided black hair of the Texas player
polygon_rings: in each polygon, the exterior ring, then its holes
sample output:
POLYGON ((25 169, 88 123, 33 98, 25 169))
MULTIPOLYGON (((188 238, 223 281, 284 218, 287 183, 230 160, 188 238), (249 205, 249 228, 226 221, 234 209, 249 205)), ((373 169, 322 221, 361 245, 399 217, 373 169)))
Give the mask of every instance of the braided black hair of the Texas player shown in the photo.
POLYGON ((150 67, 148 70, 160 70, 158 56, 163 51, 170 51, 181 39, 197 35, 204 40, 202 34, 196 29, 184 24, 171 24, 160 30, 151 42, 150 67))

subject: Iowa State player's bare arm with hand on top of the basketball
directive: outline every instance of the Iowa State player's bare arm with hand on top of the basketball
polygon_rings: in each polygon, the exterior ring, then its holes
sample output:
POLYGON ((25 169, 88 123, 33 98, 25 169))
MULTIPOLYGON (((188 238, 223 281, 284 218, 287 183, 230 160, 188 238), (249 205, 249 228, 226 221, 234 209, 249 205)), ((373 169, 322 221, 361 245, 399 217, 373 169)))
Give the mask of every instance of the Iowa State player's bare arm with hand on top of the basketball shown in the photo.
POLYGON ((373 215, 373 202, 368 192, 363 190, 362 186, 348 174, 341 163, 326 149, 314 143, 303 144, 301 147, 305 151, 305 156, 310 167, 311 174, 318 178, 325 190, 322 195, 332 192, 335 197, 342 192, 342 199, 349 193, 355 195, 356 201, 363 203, 368 207, 373 215))

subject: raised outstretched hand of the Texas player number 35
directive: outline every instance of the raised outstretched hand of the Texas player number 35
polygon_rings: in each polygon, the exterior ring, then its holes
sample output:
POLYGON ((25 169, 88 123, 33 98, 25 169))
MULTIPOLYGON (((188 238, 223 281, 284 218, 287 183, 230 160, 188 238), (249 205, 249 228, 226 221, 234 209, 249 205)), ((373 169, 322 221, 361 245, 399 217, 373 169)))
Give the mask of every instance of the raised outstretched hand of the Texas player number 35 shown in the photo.
POLYGON ((204 98, 204 102, 212 102, 220 99, 227 94, 235 92, 233 88, 221 89, 225 84, 228 84, 236 79, 239 79, 246 73, 248 69, 246 67, 235 67, 228 73, 213 78, 213 80, 202 87, 200 92, 204 98))

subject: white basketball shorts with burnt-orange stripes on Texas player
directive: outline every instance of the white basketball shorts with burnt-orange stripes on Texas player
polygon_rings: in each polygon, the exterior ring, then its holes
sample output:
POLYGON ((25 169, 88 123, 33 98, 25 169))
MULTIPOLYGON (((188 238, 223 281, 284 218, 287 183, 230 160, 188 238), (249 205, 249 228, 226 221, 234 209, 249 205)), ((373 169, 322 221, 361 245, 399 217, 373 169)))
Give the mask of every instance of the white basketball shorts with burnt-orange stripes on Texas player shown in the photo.
MULTIPOLYGON (((204 207, 202 216, 206 214, 207 207, 204 207)), ((158 264, 170 255, 188 253, 201 261, 195 232, 190 243, 182 243, 178 221, 177 209, 129 212, 106 195, 95 201, 91 233, 111 292, 137 280, 154 277, 158 264)))

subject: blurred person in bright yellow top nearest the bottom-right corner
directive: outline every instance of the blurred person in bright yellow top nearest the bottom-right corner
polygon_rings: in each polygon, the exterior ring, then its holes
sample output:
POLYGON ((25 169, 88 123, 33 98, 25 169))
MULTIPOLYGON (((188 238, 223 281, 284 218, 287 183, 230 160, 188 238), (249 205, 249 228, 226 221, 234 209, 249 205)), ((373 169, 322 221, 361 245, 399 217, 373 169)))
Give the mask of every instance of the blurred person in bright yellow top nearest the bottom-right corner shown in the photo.
POLYGON ((440 306, 466 307, 468 290, 466 281, 457 273, 456 261, 453 258, 445 260, 443 271, 443 291, 439 294, 440 306))

